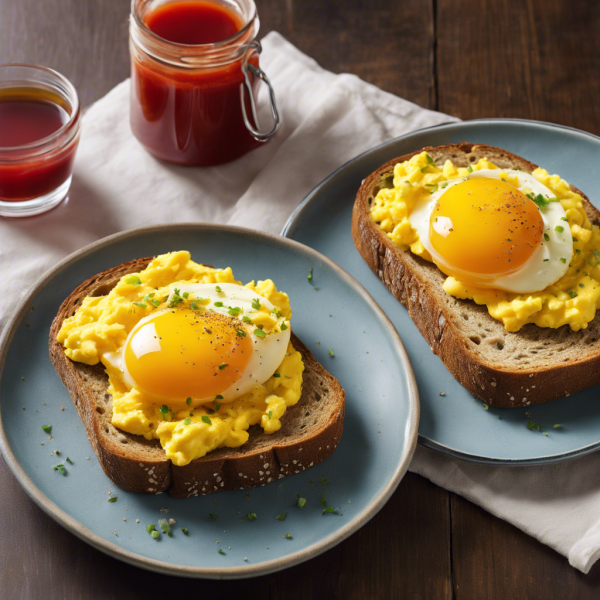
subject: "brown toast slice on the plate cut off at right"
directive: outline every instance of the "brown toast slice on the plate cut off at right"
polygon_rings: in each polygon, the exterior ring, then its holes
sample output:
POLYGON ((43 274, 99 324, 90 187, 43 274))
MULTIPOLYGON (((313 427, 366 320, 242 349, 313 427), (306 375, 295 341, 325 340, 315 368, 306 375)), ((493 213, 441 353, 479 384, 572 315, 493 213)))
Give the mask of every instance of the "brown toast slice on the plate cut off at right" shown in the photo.
MULTIPOLYGON (((398 248, 376 225, 369 207, 377 192, 390 187, 394 165, 425 150, 436 165, 450 159, 467 167, 481 158, 497 166, 531 173, 537 165, 493 146, 463 142, 427 147, 386 163, 364 180, 354 204, 352 237, 370 269, 408 309, 432 351, 454 378, 492 406, 510 408, 539 404, 600 382, 600 313, 587 329, 575 332, 525 325, 509 333, 486 306, 444 292, 446 276, 433 264, 398 248)), ((590 221, 600 225, 600 212, 581 194, 590 221)))

